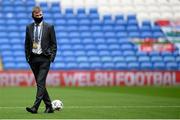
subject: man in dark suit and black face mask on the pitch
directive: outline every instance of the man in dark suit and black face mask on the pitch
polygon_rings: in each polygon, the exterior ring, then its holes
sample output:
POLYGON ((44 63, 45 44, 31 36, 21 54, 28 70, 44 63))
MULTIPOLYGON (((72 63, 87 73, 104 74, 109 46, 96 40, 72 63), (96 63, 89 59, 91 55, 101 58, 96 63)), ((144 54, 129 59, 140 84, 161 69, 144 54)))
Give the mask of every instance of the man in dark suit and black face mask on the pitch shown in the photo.
POLYGON ((54 61, 57 51, 54 26, 43 21, 40 7, 33 8, 34 23, 27 25, 25 37, 25 55, 37 84, 36 100, 32 107, 26 107, 30 113, 37 113, 43 100, 45 113, 53 113, 51 100, 46 90, 46 77, 50 63, 54 61))

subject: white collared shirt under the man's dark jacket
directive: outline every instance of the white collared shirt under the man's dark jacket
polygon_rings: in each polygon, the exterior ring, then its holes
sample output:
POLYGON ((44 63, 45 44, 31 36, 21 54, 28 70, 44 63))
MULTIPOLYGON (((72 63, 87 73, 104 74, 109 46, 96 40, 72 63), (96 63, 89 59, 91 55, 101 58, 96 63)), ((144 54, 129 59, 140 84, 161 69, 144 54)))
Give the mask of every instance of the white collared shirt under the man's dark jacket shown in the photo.
POLYGON ((43 30, 43 22, 39 23, 38 25, 38 40, 35 40, 35 32, 36 32, 36 23, 34 24, 34 35, 33 35, 33 43, 37 43, 37 48, 33 48, 32 52, 35 54, 41 54, 42 48, 41 48, 41 38, 42 38, 42 30, 43 30))

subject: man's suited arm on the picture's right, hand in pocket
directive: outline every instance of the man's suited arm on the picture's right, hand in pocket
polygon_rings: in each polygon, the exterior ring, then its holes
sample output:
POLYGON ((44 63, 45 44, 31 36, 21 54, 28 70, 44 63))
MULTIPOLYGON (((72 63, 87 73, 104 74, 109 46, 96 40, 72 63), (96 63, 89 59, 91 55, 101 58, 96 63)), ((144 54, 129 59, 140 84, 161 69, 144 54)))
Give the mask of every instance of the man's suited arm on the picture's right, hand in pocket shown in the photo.
POLYGON ((51 54, 51 62, 54 62, 56 52, 57 52, 57 43, 56 43, 56 34, 54 30, 54 26, 51 26, 51 41, 50 41, 50 50, 51 54))

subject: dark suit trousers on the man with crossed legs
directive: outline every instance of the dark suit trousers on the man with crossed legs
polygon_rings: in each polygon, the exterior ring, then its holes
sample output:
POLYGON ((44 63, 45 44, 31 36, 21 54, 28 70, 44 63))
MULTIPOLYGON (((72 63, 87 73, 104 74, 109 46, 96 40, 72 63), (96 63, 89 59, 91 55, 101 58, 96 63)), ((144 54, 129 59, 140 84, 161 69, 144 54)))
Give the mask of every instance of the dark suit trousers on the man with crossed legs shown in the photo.
POLYGON ((50 60, 47 56, 32 54, 29 64, 37 84, 36 100, 33 107, 38 109, 42 100, 46 107, 51 107, 51 100, 46 90, 46 77, 50 68, 50 60))

